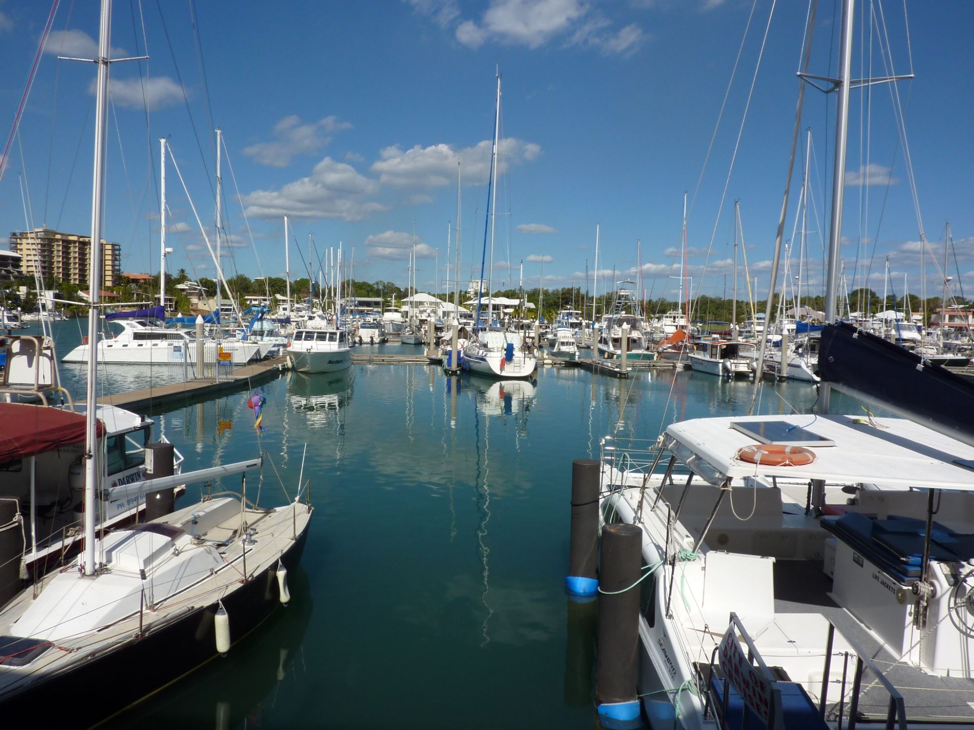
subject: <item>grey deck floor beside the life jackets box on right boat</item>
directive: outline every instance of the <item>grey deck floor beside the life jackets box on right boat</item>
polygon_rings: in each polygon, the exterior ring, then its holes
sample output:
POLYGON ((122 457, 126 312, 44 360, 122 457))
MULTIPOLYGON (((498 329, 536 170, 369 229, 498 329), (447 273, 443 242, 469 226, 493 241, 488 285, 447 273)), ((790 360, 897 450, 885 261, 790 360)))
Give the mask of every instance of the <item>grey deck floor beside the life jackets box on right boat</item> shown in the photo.
MULTIPOLYGON (((910 722, 974 723, 974 679, 928 675, 917 667, 897 662, 879 639, 866 631, 844 608, 830 598, 832 579, 816 561, 778 561, 774 565, 774 610, 776 613, 821 613, 845 637, 863 649, 886 678, 903 695, 910 722)), ((842 657, 833 656, 833 667, 842 657)), ((848 658, 845 687, 845 716, 855 672, 855 657, 848 658)), ((867 668, 863 671, 859 713, 868 719, 885 720, 889 695, 867 668)), ((826 719, 835 719, 842 696, 841 682, 829 687, 826 719)))

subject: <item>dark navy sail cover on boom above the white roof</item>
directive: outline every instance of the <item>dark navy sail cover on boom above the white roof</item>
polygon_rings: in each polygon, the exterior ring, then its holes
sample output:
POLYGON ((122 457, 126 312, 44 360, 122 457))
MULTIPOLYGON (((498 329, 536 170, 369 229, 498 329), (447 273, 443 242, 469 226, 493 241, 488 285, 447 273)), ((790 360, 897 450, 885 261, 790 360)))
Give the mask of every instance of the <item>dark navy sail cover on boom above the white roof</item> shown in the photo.
POLYGON ((826 383, 854 387, 906 411, 923 425, 940 424, 974 437, 974 385, 851 324, 840 322, 822 329, 818 374, 826 383))

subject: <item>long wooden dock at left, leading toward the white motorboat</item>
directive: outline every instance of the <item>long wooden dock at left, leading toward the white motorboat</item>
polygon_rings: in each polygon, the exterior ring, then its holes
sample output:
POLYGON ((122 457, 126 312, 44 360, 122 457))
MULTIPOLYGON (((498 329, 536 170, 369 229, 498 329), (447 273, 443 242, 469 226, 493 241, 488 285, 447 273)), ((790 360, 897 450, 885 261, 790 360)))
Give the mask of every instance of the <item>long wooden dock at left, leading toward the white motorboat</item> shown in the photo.
POLYGON ((221 393, 239 390, 246 387, 265 383, 277 378, 288 369, 286 357, 274 357, 262 360, 243 368, 235 368, 219 381, 212 379, 186 381, 184 383, 170 383, 156 385, 125 393, 103 395, 98 398, 101 405, 118 406, 128 411, 138 413, 152 413, 173 404, 199 402, 215 397, 221 393))

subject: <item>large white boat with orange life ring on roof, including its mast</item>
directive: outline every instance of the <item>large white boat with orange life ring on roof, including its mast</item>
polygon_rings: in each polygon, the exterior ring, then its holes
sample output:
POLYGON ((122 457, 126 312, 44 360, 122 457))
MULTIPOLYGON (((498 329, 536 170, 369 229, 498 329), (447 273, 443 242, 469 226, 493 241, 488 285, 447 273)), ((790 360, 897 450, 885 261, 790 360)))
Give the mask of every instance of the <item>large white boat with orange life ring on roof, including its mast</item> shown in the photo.
POLYGON ((647 576, 629 706, 655 728, 974 724, 974 388, 832 323, 853 10, 824 79, 839 101, 818 414, 674 422, 655 454, 603 442, 604 520, 640 529, 647 576), (830 414, 833 388, 900 418, 830 414))

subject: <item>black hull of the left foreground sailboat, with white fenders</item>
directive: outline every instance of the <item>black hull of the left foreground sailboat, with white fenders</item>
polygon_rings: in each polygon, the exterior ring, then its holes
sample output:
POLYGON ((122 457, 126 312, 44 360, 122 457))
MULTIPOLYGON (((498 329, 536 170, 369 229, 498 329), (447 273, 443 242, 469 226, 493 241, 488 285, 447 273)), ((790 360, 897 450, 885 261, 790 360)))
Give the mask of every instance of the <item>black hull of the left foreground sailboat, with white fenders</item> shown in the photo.
MULTIPOLYGON (((281 555, 288 571, 296 570, 304 552, 311 522, 281 555)), ((235 643, 260 626, 281 608, 277 566, 268 566, 243 586, 223 598, 230 619, 230 636, 235 643)), ((151 618, 141 638, 133 638, 116 648, 83 662, 71 670, 37 680, 17 695, 0 700, 5 712, 28 717, 44 708, 45 723, 56 727, 90 727, 113 717, 149 695, 179 680, 212 659, 216 652, 213 617, 216 605, 189 606, 185 613, 166 626, 154 629, 151 618), (105 691, 105 678, 111 678, 111 691, 105 691), (52 702, 52 698, 75 696, 92 702, 52 702), (96 701, 94 700, 96 698, 96 701)), ((231 646, 230 653, 234 651, 231 646)))

